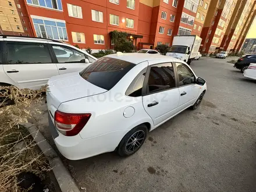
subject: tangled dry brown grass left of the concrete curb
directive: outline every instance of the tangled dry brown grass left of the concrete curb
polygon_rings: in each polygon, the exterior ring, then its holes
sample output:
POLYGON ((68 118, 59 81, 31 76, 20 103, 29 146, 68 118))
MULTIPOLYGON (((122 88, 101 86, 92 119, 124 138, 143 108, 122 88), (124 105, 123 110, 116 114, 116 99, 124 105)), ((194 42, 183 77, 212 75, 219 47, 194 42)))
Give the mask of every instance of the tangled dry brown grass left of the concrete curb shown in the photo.
POLYGON ((41 90, 19 90, 16 87, 0 87, 0 191, 20 191, 17 175, 21 172, 41 172, 50 169, 47 159, 37 150, 37 146, 26 127, 20 123, 27 122, 38 109, 29 106, 41 102, 41 90), (6 101, 14 105, 5 106, 6 101), (22 144, 20 146, 20 144, 22 144))

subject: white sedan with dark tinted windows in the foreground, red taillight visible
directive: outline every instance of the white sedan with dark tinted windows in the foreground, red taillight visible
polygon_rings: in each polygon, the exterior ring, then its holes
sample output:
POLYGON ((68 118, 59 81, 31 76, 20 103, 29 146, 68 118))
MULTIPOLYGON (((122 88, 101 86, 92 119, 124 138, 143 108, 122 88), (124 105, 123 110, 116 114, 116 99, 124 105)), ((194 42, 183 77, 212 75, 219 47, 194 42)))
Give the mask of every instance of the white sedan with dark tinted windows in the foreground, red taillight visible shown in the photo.
POLYGON ((61 154, 73 160, 115 150, 134 154, 148 131, 197 109, 207 91, 179 59, 120 52, 48 84, 49 129, 61 154))

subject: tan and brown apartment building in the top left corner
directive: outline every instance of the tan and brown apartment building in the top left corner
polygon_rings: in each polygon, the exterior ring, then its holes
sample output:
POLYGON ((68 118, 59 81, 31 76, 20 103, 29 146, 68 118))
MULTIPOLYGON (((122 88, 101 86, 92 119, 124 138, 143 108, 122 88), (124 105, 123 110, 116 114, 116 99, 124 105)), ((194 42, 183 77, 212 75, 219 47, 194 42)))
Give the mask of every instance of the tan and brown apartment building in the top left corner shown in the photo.
POLYGON ((0 1, 0 34, 33 35, 24 1, 0 1))

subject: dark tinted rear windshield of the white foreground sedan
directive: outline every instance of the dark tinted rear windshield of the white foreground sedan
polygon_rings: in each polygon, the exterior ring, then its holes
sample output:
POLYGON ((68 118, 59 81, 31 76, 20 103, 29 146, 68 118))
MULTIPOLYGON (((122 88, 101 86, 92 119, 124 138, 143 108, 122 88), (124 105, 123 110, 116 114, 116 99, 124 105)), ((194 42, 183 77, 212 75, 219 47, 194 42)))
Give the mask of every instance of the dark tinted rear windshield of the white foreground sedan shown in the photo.
POLYGON ((83 79, 95 86, 111 90, 135 64, 115 58, 100 58, 80 72, 83 79))

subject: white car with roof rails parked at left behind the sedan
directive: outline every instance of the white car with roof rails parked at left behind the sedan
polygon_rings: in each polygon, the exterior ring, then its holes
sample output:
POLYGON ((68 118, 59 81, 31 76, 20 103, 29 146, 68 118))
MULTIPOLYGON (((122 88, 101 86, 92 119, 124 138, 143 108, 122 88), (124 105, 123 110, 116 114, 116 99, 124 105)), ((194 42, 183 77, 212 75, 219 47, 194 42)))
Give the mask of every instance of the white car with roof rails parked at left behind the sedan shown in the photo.
POLYGON ((64 42, 0 35, 0 86, 37 90, 50 77, 79 72, 95 60, 64 42))

